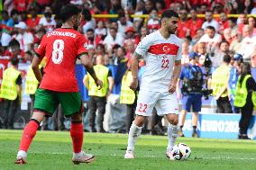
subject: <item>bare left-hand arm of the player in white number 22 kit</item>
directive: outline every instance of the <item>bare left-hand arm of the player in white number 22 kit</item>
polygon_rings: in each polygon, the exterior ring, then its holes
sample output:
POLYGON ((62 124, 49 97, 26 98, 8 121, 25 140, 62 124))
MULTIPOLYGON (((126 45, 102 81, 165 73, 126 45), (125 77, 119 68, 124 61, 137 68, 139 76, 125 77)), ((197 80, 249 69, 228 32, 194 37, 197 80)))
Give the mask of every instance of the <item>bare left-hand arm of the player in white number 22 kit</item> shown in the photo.
POLYGON ((139 59, 142 58, 140 54, 138 54, 136 51, 133 53, 133 58, 132 58, 132 76, 133 76, 133 81, 130 85, 130 88, 135 91, 138 86, 138 67, 139 67, 139 59))

